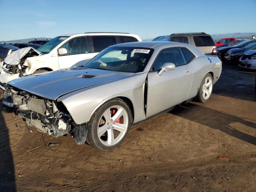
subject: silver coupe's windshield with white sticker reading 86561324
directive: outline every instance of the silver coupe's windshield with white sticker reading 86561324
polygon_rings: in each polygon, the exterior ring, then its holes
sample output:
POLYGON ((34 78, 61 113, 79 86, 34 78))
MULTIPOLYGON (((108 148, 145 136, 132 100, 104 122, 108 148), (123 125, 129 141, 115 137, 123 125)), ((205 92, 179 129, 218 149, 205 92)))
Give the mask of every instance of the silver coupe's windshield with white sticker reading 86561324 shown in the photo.
POLYGON ((151 48, 138 47, 106 48, 85 64, 85 67, 120 72, 142 72, 153 51, 151 48))

